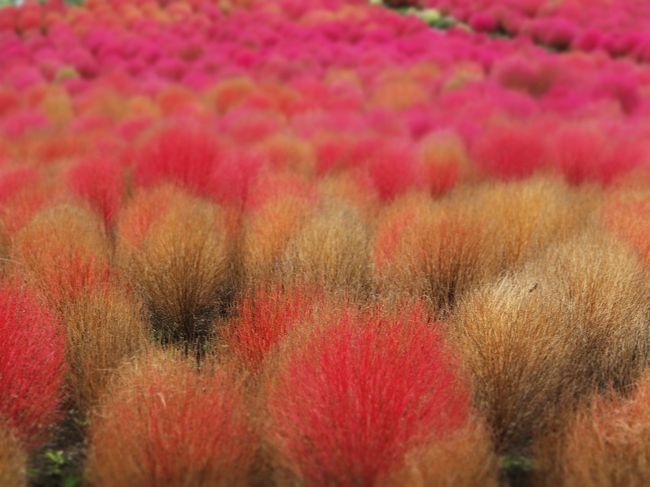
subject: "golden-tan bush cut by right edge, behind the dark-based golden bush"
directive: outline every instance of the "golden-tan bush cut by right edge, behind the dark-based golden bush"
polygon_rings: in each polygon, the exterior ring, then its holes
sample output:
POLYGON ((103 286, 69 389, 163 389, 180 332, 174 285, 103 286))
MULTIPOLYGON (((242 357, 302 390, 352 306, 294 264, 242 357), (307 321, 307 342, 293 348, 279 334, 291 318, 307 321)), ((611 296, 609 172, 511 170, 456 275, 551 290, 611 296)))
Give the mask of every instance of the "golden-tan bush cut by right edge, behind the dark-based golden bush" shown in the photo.
POLYGON ((534 265, 543 270, 547 292, 558 296, 566 334, 578 339, 574 368, 582 380, 630 385, 650 353, 650 275, 641 261, 592 227, 534 265))

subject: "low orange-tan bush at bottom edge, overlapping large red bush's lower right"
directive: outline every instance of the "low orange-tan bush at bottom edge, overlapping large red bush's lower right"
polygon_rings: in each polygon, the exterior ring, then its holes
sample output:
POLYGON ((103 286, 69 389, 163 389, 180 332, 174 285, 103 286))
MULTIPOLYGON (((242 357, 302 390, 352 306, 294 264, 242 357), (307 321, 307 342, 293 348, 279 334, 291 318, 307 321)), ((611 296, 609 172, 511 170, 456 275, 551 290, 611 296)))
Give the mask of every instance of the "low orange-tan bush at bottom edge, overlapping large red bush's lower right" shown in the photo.
POLYGON ((384 485, 395 487, 496 487, 499 458, 481 422, 470 422, 406 456, 405 467, 384 485))

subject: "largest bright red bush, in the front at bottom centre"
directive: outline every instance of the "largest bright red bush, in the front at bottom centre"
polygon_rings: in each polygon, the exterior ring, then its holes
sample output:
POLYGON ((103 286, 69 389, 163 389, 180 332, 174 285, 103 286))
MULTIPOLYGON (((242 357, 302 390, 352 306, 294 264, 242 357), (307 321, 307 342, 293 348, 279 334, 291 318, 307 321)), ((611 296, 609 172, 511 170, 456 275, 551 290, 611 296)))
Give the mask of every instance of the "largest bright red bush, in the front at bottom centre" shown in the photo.
POLYGON ((268 414, 280 463, 307 485, 375 485, 465 422, 468 391, 420 313, 346 313, 304 340, 279 358, 268 414))

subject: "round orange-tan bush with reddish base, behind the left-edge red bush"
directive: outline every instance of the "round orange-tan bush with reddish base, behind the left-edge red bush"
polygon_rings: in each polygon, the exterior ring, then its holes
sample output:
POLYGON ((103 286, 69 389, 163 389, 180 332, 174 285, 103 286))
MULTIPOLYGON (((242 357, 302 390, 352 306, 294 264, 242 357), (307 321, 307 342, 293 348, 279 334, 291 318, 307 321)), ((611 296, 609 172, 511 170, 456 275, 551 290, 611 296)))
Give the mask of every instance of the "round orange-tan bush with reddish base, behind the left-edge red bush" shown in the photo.
POLYGON ((63 309, 110 278, 111 247, 92 212, 59 205, 38 213, 14 237, 10 269, 63 309))

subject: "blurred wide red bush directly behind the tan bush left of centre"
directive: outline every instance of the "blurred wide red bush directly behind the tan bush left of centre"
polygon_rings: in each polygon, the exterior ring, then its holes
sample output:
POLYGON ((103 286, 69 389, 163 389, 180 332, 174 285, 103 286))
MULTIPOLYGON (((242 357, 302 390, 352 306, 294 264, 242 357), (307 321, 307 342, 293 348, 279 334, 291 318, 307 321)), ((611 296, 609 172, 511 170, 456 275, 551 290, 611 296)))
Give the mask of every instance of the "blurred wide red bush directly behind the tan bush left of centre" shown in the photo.
POLYGON ((212 133, 173 126, 149 140, 135 165, 136 183, 150 187, 174 182, 199 196, 212 189, 211 177, 222 158, 212 133))

